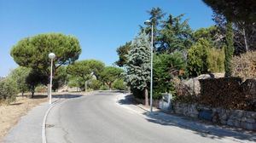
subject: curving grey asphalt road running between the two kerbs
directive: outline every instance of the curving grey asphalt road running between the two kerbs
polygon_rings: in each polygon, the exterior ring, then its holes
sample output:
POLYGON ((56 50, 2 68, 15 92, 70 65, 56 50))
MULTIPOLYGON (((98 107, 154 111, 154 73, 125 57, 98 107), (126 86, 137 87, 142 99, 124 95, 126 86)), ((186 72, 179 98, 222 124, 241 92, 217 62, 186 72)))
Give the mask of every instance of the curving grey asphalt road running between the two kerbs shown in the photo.
POLYGON ((48 143, 215 143, 224 137, 164 123, 140 114, 129 102, 117 104, 118 93, 96 92, 57 104, 47 119, 48 143))

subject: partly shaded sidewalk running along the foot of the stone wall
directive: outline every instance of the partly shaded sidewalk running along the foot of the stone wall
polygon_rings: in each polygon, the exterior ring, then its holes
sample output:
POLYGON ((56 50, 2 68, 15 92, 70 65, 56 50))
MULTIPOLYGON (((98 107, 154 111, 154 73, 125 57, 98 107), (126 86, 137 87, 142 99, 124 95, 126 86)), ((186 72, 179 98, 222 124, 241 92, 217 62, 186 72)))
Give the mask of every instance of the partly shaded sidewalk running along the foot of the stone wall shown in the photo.
POLYGON ((204 123, 200 120, 190 119, 188 117, 181 117, 175 114, 167 114, 161 112, 157 108, 153 108, 152 113, 149 112, 148 106, 135 105, 132 98, 127 97, 126 94, 121 94, 117 98, 117 103, 125 108, 130 108, 145 117, 148 122, 159 123, 161 125, 177 126, 183 129, 193 130, 211 138, 224 138, 224 140, 237 141, 237 142, 256 142, 256 132, 247 131, 244 129, 234 129, 227 126, 218 126, 212 123, 204 123))

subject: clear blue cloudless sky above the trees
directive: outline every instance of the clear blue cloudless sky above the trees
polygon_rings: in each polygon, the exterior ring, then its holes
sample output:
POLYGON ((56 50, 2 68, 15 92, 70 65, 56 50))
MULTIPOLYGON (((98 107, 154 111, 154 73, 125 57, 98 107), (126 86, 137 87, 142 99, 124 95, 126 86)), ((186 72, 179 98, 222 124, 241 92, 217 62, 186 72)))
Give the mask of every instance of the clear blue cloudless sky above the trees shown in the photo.
POLYGON ((61 32, 79 38, 79 60, 118 60, 115 50, 148 20, 147 10, 185 14, 195 30, 212 26, 212 10, 201 0, 0 0, 0 76, 17 65, 9 51, 23 37, 61 32))

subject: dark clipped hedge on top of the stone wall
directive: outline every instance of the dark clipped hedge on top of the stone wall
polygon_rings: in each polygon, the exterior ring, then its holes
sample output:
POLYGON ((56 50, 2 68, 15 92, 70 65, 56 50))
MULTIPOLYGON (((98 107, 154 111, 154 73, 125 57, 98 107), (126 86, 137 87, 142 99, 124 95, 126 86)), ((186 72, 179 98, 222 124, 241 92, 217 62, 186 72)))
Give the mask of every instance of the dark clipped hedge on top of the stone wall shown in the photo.
POLYGON ((240 77, 208 78, 199 80, 201 96, 199 103, 211 107, 256 111, 256 80, 241 83, 240 77), (252 86, 253 85, 253 86, 252 86))

